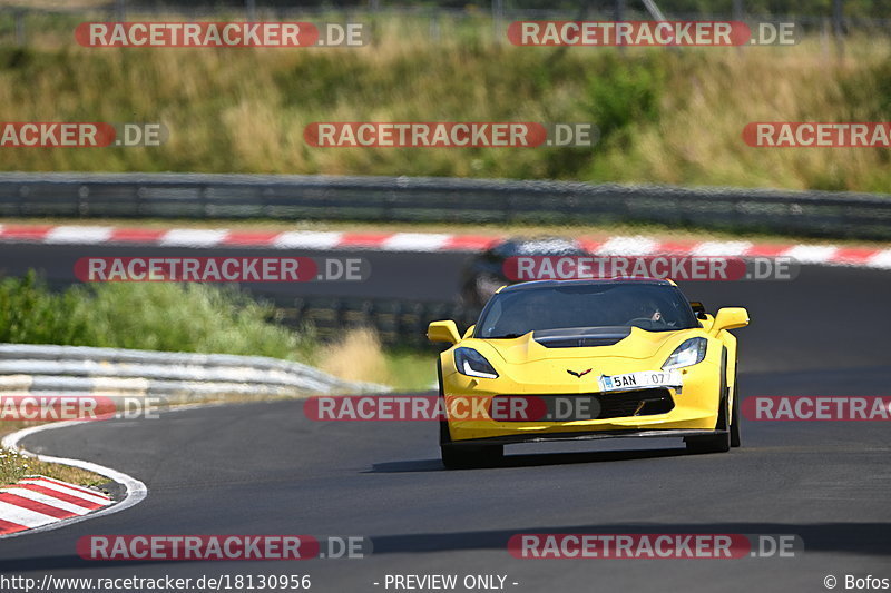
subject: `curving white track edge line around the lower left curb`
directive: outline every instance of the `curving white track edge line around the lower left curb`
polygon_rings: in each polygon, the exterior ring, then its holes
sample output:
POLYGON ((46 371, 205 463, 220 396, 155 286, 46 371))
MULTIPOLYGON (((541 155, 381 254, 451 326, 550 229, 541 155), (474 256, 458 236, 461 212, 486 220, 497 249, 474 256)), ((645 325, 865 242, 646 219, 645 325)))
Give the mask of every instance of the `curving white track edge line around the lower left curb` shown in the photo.
POLYGON ((30 428, 23 428, 19 432, 8 434, 3 437, 3 441, 0 442, 6 448, 18 451, 20 454, 26 455, 28 457, 35 457, 41 462, 48 463, 59 463, 62 465, 70 465, 71 467, 80 467, 81 470, 86 470, 88 472, 92 472, 95 474, 99 474, 105 476, 109 480, 112 480, 119 484, 124 484, 127 488, 127 493, 123 501, 119 503, 112 504, 110 506, 106 506, 105 508, 99 508, 88 515, 81 515, 77 517, 63 518, 60 521, 55 521, 53 523, 49 523, 42 526, 38 526, 31 530, 20 531, 16 533, 10 533, 7 535, 0 535, 0 538, 6 537, 18 537, 20 535, 28 535, 31 533, 41 533, 45 531, 57 530, 59 527, 63 527, 66 525, 71 525, 74 523, 79 523, 81 521, 87 521, 90 518, 97 518, 105 515, 110 515, 112 513, 118 513, 120 511, 125 511, 134 505, 139 504, 148 494, 148 488, 145 484, 140 481, 136 480, 133 476, 125 474, 124 472, 118 472, 117 470, 112 470, 110 467, 106 467, 104 465, 99 465, 98 463, 92 462, 85 462, 81 459, 69 459, 66 457, 52 457, 49 455, 37 455, 23 448, 20 448, 19 442, 22 441, 25 437, 30 436, 32 434, 42 433, 43 431, 55 431, 58 428, 65 428, 67 426, 82 426, 82 422, 78 421, 69 421, 69 422, 58 422, 52 424, 45 424, 41 426, 32 426, 30 428))

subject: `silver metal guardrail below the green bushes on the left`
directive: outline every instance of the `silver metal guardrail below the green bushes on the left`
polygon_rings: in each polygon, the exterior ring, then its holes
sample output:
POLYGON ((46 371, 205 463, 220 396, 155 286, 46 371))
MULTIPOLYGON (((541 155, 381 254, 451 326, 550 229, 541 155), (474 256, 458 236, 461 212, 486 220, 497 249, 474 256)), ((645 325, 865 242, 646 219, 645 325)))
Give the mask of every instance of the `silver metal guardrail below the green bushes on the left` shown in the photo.
POLYGON ((0 393, 219 397, 380 393, 300 363, 261 356, 0 344, 0 393))

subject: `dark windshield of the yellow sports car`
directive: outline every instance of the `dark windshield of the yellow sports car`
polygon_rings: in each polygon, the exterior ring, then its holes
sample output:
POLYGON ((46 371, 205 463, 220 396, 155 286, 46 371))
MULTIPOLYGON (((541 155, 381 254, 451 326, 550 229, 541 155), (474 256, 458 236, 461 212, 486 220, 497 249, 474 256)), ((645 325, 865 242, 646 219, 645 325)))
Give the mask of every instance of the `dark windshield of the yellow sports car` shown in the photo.
POLYGON ((698 327, 698 323, 681 290, 670 285, 567 283, 495 295, 480 315, 476 337, 615 326, 673 332, 698 327))

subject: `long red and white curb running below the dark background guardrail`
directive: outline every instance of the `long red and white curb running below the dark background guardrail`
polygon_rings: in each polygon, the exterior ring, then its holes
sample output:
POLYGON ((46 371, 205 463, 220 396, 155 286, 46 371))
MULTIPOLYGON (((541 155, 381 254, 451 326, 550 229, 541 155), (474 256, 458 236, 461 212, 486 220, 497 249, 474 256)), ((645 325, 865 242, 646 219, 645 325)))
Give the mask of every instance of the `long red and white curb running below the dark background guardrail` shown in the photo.
MULTIPOLYGON (((354 233, 228 229, 146 229, 97 226, 0 225, 0 241, 47 245, 151 245, 157 247, 263 247, 267 249, 372 249, 382 251, 483 251, 503 237, 444 233, 354 233)), ((754 244, 745 240, 660 240, 653 237, 580 238, 596 255, 657 254, 792 257, 801 264, 891 269, 891 248, 794 243, 754 244)))

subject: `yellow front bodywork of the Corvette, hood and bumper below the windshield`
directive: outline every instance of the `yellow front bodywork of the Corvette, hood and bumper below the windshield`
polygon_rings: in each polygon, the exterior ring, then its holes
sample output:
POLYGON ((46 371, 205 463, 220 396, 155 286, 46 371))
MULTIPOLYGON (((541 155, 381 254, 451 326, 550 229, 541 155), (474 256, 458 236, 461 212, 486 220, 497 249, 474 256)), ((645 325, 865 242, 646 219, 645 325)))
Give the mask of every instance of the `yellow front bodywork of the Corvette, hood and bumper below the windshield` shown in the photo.
MULTIPOLYGON (((642 340, 648 340, 646 334, 633 328, 624 344, 560 348, 559 354, 537 343, 532 334, 503 340, 499 347, 473 339, 462 342, 462 348, 480 353, 498 375, 461 373, 456 357, 449 356, 450 352, 443 355, 442 386, 452 442, 511 436, 515 438, 510 441, 516 442, 542 434, 656 428, 714 429, 721 389, 721 344, 706 347, 704 359, 697 364, 663 370, 663 364, 679 345, 675 344, 678 338, 658 336, 660 344, 648 344, 655 352, 642 358, 635 350, 642 340), (655 380, 644 383, 640 375, 646 374, 654 375, 650 378, 655 380), (527 408, 539 403, 530 397, 536 396, 550 414, 523 422, 520 406, 515 406, 518 413, 512 417, 496 414, 492 418, 492 414, 476 413, 491 411, 495 398, 516 396, 527 408), (582 405, 584 398, 594 403, 582 405)), ((705 332, 698 334, 708 339, 705 332)), ((496 409, 510 406, 502 404, 496 409)))

